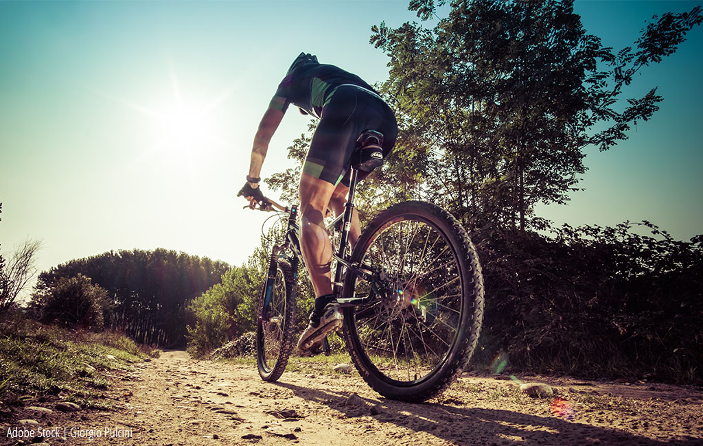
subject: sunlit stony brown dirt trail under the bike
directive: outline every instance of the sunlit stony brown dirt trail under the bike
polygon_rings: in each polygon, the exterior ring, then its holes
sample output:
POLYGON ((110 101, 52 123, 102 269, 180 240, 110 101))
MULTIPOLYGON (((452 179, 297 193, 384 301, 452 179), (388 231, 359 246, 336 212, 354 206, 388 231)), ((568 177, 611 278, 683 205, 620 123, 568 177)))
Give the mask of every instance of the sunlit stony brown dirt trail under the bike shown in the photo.
MULTIPOLYGON (((356 371, 286 372, 266 383, 254 367, 174 351, 115 377, 108 393, 117 411, 34 419, 67 428, 66 440, 50 445, 703 445, 699 389, 529 381, 549 383, 562 399, 530 398, 510 379, 465 376, 433 402, 408 404, 380 397, 356 371), (117 436, 105 438, 105 428, 117 436), (103 435, 76 436, 91 429, 103 435)), ((0 443, 9 441, 4 434, 0 443)))

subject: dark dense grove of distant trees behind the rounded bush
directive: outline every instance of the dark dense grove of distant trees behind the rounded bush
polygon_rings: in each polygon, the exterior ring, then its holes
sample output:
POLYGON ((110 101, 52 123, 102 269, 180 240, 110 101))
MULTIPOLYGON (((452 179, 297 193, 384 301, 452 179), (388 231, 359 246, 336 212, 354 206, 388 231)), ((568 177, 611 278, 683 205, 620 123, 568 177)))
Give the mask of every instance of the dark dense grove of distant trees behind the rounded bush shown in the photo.
POLYGON ((110 251, 41 273, 37 291, 41 294, 63 277, 90 277, 108 291, 114 306, 107 327, 138 343, 177 346, 185 343, 188 303, 229 269, 221 261, 166 249, 110 251))

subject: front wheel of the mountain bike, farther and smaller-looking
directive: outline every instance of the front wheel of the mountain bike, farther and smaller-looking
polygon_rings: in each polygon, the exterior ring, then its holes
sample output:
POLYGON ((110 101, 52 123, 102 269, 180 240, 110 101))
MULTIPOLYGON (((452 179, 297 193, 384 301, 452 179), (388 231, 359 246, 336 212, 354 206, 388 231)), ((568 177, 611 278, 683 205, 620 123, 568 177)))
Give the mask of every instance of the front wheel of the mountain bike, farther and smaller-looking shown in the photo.
POLYGON ((264 282, 257 321, 257 365, 264 381, 276 381, 288 364, 295 328, 295 279, 290 264, 278 260, 276 277, 264 282), (267 288, 268 305, 264 305, 267 288))

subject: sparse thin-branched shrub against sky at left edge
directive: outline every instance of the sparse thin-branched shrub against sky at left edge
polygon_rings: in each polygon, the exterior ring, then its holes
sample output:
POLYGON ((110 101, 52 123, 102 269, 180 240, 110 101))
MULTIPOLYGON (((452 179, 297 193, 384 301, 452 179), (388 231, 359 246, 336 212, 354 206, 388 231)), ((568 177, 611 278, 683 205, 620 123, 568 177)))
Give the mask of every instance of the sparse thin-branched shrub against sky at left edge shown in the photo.
POLYGON ((37 274, 34 260, 40 247, 41 242, 26 240, 15 250, 9 262, 0 256, 0 312, 13 306, 37 274))

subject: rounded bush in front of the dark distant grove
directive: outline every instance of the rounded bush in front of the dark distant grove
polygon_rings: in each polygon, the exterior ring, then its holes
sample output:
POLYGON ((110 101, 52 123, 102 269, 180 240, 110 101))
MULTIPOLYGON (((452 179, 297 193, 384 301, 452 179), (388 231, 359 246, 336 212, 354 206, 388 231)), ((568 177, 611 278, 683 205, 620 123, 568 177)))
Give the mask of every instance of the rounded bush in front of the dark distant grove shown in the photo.
POLYGON ((108 291, 79 274, 60 278, 37 296, 34 305, 42 322, 99 332, 105 326, 103 314, 110 308, 110 300, 108 291))

